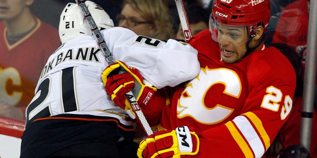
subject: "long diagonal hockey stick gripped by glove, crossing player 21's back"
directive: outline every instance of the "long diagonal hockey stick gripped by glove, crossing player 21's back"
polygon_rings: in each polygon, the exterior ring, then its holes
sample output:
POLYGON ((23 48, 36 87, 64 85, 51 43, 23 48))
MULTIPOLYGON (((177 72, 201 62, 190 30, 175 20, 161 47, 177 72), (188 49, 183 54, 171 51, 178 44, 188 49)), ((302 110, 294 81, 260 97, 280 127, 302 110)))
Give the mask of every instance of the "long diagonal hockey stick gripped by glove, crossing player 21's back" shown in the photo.
MULTIPOLYGON (((85 19, 89 23, 90 29, 91 29, 92 33, 94 34, 101 50, 105 54, 106 61, 108 62, 109 65, 113 64, 114 58, 113 58, 108 46, 106 45, 106 42, 105 42, 104 38, 102 37, 93 17, 91 16, 91 14, 88 10, 88 7, 85 3, 85 0, 76 0, 76 2, 78 4, 78 6, 81 8, 85 19)), ((138 102, 136 101, 135 97, 133 96, 133 93, 131 90, 126 93, 126 97, 129 100, 129 103, 132 107, 134 114, 136 115, 136 118, 139 120, 139 122, 142 125, 142 128, 146 132, 146 135, 149 136, 149 135, 153 134, 151 126, 149 125, 147 119, 145 118, 143 112, 141 111, 141 108, 140 108, 138 102)))

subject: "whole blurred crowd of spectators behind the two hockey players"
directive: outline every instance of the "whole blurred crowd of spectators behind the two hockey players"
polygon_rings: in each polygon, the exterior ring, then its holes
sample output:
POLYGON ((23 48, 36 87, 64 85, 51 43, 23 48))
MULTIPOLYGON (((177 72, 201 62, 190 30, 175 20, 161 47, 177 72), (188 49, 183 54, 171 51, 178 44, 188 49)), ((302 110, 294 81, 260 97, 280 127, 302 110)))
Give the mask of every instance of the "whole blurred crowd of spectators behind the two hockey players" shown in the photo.
MULTIPOLYGON (((159 40, 185 40, 174 0, 92 1, 106 10, 115 26, 159 40)), ((26 118, 25 109, 34 96, 42 69, 60 45, 58 22, 68 2, 75 0, 0 0, 1 117, 26 118)), ((192 36, 209 29, 213 0, 184 2, 192 36)), ((271 19, 264 44, 279 49, 297 73, 292 116, 264 156, 276 158, 280 149, 299 144, 310 0, 270 2, 271 19)), ((313 132, 317 131, 316 114, 315 104, 313 132)), ((309 151, 317 158, 317 135, 312 135, 309 151)))

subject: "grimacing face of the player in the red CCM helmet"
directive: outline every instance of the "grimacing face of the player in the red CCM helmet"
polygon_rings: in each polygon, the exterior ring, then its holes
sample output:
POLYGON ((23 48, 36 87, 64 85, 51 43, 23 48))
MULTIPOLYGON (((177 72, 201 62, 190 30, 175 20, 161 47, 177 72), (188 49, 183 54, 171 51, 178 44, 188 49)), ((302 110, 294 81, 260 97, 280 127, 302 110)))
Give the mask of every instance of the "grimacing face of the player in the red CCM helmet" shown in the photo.
POLYGON ((246 43, 250 40, 245 27, 219 24, 217 28, 222 61, 226 63, 240 61, 247 52, 246 43))

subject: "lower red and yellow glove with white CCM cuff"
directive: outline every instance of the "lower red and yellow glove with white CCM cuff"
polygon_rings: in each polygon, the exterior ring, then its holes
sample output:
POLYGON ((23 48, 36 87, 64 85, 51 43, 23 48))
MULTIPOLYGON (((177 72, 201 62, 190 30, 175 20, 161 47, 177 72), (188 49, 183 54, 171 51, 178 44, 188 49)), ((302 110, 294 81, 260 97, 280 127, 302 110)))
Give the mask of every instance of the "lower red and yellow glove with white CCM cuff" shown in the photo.
POLYGON ((180 158, 181 155, 196 155, 198 150, 197 134, 182 126, 148 136, 140 143, 137 155, 139 158, 180 158))

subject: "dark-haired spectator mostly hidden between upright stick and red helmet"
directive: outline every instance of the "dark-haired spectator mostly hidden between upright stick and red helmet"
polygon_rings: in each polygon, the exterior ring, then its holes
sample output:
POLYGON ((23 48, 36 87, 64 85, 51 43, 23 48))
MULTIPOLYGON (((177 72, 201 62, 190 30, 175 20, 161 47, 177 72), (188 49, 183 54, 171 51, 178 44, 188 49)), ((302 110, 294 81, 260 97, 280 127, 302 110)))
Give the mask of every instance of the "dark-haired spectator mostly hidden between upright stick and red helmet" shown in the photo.
MULTIPOLYGON (((192 3, 186 8, 186 14, 192 36, 208 29, 211 10, 204 9, 199 3, 192 3)), ((179 23, 176 39, 185 40, 182 25, 179 23)))

